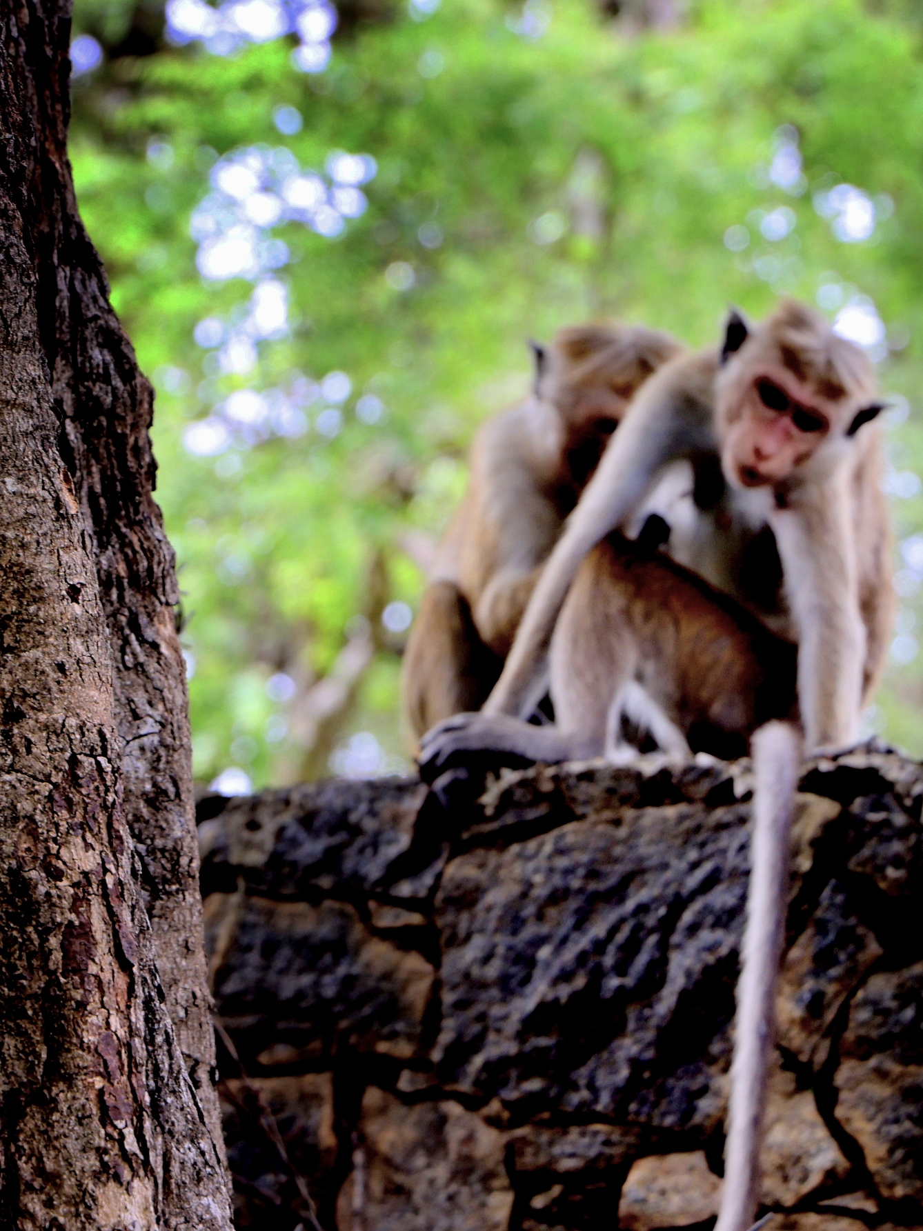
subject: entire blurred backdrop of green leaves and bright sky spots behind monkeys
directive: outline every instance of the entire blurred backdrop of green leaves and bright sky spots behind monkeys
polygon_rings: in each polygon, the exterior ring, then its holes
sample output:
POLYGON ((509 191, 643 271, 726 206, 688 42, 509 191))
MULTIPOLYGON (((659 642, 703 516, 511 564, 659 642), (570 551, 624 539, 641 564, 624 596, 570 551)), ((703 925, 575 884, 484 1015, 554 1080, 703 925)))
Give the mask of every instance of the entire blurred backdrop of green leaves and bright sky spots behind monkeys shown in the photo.
POLYGON ((919 0, 76 0, 71 159, 156 388, 196 777, 407 766, 400 652, 525 340, 816 303, 889 394, 923 753, 919 0))

